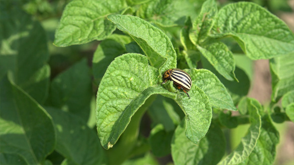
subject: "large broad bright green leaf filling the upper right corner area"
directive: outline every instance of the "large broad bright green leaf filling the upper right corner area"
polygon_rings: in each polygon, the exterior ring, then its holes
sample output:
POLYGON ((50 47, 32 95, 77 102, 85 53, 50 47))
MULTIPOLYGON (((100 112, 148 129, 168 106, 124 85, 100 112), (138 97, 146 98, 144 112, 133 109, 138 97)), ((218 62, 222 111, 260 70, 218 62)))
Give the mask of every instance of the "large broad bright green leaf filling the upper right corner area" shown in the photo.
POLYGON ((233 36, 252 60, 294 51, 294 34, 274 14, 251 2, 231 3, 218 12, 214 37, 233 36))

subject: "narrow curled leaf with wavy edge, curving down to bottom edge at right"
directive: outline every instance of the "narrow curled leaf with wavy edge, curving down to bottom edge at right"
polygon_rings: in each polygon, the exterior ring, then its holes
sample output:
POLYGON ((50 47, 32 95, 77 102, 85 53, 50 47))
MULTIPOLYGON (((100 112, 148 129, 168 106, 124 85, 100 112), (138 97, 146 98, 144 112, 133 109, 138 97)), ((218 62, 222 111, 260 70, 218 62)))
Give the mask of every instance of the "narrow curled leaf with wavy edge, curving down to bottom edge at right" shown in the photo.
POLYGON ((257 144, 261 131, 261 116, 259 109, 255 106, 252 99, 248 99, 248 111, 250 115, 250 127, 245 137, 242 138, 238 147, 226 156, 219 165, 236 165, 243 162, 252 153, 257 144))

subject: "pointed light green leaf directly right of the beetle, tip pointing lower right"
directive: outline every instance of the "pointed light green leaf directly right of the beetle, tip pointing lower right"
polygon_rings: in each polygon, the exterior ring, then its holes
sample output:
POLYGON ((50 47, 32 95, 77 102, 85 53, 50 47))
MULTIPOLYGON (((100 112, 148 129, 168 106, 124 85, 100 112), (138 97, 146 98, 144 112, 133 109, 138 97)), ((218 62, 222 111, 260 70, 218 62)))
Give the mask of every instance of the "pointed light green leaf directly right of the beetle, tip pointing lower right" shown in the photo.
POLYGON ((188 73, 191 76, 193 84, 205 92, 213 107, 237 110, 226 87, 212 72, 205 69, 191 69, 188 73))

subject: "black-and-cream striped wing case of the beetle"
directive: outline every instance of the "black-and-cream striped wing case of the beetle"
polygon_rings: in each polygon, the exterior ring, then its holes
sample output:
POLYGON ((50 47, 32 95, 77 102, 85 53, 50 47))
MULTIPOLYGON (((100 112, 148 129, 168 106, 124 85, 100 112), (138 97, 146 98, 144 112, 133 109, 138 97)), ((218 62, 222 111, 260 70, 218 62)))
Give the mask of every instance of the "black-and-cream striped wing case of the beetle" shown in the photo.
POLYGON ((187 90, 191 89, 192 81, 189 74, 187 74, 185 71, 173 69, 170 74, 170 79, 177 85, 180 85, 187 90))

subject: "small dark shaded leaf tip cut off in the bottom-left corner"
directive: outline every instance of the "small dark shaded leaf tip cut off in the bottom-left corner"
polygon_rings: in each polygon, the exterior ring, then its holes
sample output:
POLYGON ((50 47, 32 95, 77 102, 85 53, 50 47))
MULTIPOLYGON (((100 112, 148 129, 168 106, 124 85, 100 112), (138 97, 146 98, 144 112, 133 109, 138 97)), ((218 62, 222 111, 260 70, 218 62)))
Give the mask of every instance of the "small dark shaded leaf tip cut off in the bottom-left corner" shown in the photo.
POLYGON ((23 157, 17 154, 0 153, 1 165, 28 165, 23 157))

